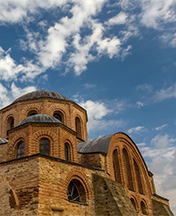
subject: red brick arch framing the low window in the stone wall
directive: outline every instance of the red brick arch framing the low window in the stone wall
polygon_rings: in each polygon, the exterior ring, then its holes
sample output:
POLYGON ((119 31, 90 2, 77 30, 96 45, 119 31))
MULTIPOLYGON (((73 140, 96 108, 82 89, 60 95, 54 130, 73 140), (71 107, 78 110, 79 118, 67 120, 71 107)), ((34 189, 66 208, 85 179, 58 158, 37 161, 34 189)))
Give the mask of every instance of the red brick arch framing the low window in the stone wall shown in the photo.
POLYGON ((65 181, 63 182, 63 192, 65 194, 65 199, 67 199, 67 189, 72 180, 78 180, 82 184, 85 190, 86 200, 91 198, 92 192, 87 181, 86 175, 81 172, 81 170, 72 169, 71 172, 67 175, 65 181))

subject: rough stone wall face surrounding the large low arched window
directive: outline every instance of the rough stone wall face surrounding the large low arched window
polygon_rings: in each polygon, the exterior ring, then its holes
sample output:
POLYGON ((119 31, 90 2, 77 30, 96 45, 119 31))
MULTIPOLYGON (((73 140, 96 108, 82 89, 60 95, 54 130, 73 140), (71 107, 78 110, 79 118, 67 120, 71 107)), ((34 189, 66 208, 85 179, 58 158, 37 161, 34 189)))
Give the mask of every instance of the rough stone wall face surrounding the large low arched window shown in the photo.
POLYGON ((74 163, 40 157, 39 215, 95 215, 92 174, 103 171, 88 169, 74 163), (67 198, 71 180, 79 180, 86 193, 86 203, 72 203, 67 198))

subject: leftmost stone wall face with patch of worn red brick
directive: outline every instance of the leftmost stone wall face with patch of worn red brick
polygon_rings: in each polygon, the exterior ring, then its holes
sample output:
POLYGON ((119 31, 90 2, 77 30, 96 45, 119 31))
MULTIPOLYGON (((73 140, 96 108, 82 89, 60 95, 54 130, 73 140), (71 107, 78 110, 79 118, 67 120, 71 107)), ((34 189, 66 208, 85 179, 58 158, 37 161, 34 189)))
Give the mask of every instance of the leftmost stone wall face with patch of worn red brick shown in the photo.
POLYGON ((0 216, 35 216, 38 208, 38 158, 0 163, 0 216))

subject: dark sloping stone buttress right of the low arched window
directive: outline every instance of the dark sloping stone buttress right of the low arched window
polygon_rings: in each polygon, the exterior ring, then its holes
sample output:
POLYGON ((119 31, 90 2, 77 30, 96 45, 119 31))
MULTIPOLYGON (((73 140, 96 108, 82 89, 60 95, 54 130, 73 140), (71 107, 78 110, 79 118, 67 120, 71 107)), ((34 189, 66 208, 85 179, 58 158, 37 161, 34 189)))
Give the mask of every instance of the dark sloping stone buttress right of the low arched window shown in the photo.
POLYGON ((137 212, 121 184, 93 174, 93 186, 95 215, 137 216, 137 212))

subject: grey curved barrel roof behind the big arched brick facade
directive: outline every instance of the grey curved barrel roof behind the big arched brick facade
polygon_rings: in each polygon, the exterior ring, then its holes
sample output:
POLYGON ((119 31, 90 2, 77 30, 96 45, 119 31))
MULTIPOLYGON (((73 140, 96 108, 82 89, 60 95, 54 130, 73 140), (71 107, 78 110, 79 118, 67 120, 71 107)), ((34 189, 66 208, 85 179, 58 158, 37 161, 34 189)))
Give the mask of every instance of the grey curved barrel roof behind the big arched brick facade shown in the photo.
POLYGON ((78 143, 77 149, 79 153, 108 153, 109 143, 114 134, 98 137, 93 140, 78 143))

